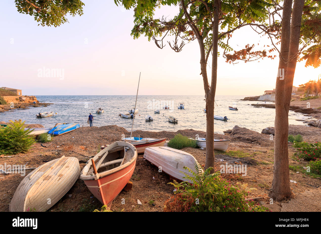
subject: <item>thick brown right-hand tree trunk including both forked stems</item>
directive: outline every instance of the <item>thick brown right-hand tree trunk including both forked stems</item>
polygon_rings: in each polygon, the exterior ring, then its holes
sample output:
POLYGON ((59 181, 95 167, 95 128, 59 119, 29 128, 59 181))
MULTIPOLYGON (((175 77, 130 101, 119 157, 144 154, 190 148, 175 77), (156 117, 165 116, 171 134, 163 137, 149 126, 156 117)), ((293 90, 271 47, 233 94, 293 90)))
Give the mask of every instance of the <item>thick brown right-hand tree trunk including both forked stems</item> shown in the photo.
POLYGON ((303 4, 304 0, 294 0, 291 24, 292 0, 285 0, 283 5, 279 76, 276 79, 275 87, 273 182, 269 193, 269 196, 277 201, 291 196, 288 152, 288 114, 297 61, 296 58, 293 58, 293 55, 296 55, 299 48, 303 4), (301 13, 299 13, 300 11, 301 13), (289 61, 289 59, 292 60, 289 61))

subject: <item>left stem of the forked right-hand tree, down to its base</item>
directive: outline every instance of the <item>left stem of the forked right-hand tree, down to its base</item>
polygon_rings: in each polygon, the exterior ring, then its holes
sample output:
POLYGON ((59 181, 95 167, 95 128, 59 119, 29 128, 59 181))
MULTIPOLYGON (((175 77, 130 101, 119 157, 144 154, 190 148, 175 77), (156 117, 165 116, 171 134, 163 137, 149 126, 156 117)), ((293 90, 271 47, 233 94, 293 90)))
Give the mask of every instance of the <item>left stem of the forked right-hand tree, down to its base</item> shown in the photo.
POLYGON ((288 111, 285 107, 284 86, 291 35, 292 0, 285 0, 282 13, 280 62, 275 86, 274 165, 269 196, 282 200, 291 195, 288 155, 288 111))

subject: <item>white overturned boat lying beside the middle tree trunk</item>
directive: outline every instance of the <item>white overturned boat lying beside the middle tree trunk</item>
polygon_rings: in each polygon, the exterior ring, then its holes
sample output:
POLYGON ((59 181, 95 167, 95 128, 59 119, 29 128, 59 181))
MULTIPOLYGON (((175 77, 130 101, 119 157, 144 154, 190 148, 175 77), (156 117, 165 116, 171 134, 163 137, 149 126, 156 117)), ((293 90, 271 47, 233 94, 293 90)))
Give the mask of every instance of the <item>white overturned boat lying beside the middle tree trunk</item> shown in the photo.
POLYGON ((192 183, 192 181, 183 178, 185 177, 183 172, 193 176, 192 173, 188 172, 183 167, 186 166, 196 172, 195 162, 197 162, 197 160, 193 155, 168 146, 160 146, 146 148, 143 157, 161 169, 162 172, 165 172, 178 180, 192 183))

